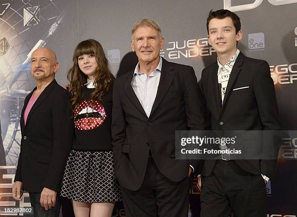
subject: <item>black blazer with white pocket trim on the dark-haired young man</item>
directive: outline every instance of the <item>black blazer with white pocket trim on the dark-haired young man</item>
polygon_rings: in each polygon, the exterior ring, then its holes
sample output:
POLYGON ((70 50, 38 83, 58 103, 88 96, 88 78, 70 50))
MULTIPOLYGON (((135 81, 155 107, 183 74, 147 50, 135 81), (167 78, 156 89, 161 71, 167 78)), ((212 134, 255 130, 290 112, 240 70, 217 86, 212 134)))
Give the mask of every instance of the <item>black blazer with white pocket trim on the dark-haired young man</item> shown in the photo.
MULTIPOLYGON (((223 104, 217 81, 217 62, 202 71, 207 119, 213 130, 278 130, 280 120, 273 80, 267 62, 240 53, 228 81, 223 104), (245 89, 234 90, 241 87, 245 89)), ((278 148, 277 148, 278 149, 278 148)), ((245 171, 271 178, 276 160, 236 160, 245 171)), ((205 160, 202 175, 209 176, 215 160, 205 160)))

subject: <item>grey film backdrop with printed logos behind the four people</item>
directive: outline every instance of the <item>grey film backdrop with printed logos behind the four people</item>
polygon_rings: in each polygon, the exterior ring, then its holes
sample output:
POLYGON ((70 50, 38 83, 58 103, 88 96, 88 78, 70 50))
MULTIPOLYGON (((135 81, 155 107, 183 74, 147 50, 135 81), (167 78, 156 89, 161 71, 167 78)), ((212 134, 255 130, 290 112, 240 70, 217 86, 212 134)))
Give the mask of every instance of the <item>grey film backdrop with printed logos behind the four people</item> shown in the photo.
MULTIPOLYGON (((216 61, 216 53, 207 42, 206 18, 211 9, 222 8, 241 18, 240 51, 269 63, 282 128, 296 130, 297 0, 1 0, 0 210, 28 206, 29 202, 27 195, 22 202, 14 202, 10 192, 20 150, 20 112, 25 96, 35 85, 29 61, 35 48, 49 47, 56 52, 60 62, 56 79, 65 85, 75 46, 94 38, 103 46, 116 76, 137 63, 131 53, 133 24, 151 18, 160 24, 165 38, 161 56, 193 66, 199 81, 202 69, 216 61)), ((296 147, 296 134, 283 138, 276 175, 266 186, 267 217, 297 216, 296 147)), ((199 216, 195 182, 190 189, 191 217, 199 216)), ((122 204, 117 204, 113 216, 125 216, 122 204)))

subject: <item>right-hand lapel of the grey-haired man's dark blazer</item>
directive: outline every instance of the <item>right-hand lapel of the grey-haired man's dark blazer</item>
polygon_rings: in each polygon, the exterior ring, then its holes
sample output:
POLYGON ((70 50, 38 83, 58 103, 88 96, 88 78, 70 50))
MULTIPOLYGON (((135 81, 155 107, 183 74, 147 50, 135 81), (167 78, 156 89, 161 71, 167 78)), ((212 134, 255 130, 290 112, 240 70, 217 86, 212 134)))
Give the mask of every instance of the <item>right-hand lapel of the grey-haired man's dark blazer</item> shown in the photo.
POLYGON ((153 103, 153 106, 150 111, 149 117, 153 114, 155 109, 159 106, 161 103, 163 97, 165 96, 165 93, 167 92, 168 88, 170 87, 172 80, 174 78, 175 72, 174 67, 172 64, 167 62, 165 59, 162 60, 162 69, 161 69, 161 77, 159 81, 159 86, 157 90, 157 95, 155 98, 155 101, 153 103))

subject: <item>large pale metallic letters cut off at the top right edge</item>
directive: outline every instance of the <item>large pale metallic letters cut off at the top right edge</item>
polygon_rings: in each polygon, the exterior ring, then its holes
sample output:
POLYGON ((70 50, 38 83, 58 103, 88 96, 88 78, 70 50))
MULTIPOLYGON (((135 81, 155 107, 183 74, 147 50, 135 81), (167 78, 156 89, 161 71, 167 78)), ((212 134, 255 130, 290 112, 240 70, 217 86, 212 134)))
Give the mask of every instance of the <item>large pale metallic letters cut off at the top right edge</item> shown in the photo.
MULTIPOLYGON (((250 10, 258 7, 262 3, 262 1, 263 0, 255 0, 254 3, 231 6, 231 0, 224 0, 224 9, 227 9, 233 12, 250 10)), ((297 3, 297 0, 268 0, 268 2, 270 4, 278 6, 283 4, 297 3)))

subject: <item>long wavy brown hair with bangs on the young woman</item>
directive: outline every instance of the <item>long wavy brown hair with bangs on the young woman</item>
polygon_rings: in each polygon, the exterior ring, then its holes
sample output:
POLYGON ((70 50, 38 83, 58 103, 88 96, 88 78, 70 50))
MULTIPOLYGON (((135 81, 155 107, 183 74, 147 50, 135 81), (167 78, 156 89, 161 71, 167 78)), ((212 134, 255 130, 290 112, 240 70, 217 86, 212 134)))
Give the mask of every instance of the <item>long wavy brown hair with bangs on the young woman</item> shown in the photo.
POLYGON ((91 99, 102 100, 102 96, 112 89, 115 80, 108 68, 108 60, 100 43, 94 39, 88 39, 79 43, 74 50, 73 66, 67 73, 67 79, 70 82, 69 92, 71 94, 72 110, 82 101, 83 85, 87 82, 87 76, 82 73, 78 64, 78 57, 84 54, 94 55, 98 64, 98 69, 94 75, 96 89, 91 93, 91 99))

